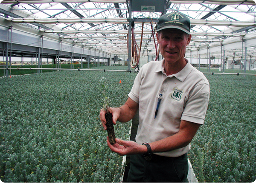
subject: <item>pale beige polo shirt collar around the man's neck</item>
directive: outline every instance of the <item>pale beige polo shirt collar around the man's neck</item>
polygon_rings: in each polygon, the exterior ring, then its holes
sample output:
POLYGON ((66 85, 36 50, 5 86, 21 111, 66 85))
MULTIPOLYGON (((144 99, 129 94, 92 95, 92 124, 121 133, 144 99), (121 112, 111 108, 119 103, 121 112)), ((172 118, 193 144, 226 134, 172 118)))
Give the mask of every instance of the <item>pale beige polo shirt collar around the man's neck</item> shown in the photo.
MULTIPOLYGON (((185 58, 186 59, 186 58, 185 58)), ((165 74, 166 75, 166 73, 165 73, 165 71, 164 71, 164 68, 163 68, 163 62, 164 62, 164 59, 162 59, 159 63, 158 63, 158 65, 157 65, 157 67, 156 67, 156 69, 155 69, 155 73, 156 72, 162 72, 163 74, 165 74)), ((181 82, 183 82, 185 79, 186 79, 186 77, 189 75, 189 73, 191 72, 191 70, 192 70, 192 65, 189 63, 189 61, 186 59, 186 62, 187 62, 187 64, 185 65, 185 67, 182 69, 182 70, 180 70, 180 72, 178 72, 178 73, 176 73, 176 74, 172 74, 172 75, 170 75, 170 76, 167 76, 167 77, 170 77, 170 78, 172 78, 173 76, 175 77, 175 78, 177 78, 178 80, 180 80, 181 82)))

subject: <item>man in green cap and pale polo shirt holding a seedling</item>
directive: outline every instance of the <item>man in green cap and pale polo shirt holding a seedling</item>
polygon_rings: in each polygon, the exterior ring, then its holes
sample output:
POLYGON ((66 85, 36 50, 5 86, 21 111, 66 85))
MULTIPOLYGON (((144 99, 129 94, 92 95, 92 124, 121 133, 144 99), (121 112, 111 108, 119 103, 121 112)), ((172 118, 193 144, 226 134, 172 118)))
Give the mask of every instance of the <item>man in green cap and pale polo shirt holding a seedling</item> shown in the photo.
MULTIPOLYGON (((209 82, 184 58, 190 40, 186 15, 161 16, 157 42, 164 59, 144 65, 125 104, 111 108, 114 124, 130 121, 139 109, 136 142, 107 140, 113 152, 131 155, 128 183, 188 183, 189 143, 204 123, 209 101, 209 82)), ((101 110, 106 130, 104 115, 101 110)))

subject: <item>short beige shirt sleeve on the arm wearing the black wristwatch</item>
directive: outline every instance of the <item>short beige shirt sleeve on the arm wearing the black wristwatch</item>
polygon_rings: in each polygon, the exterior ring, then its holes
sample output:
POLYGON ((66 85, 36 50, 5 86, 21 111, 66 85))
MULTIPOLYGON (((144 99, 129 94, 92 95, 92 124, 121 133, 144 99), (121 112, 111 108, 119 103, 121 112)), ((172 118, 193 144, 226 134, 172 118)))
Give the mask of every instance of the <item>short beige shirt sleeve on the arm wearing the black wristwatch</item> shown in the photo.
POLYGON ((189 94, 181 120, 204 124, 208 107, 210 88, 208 84, 198 84, 189 94))

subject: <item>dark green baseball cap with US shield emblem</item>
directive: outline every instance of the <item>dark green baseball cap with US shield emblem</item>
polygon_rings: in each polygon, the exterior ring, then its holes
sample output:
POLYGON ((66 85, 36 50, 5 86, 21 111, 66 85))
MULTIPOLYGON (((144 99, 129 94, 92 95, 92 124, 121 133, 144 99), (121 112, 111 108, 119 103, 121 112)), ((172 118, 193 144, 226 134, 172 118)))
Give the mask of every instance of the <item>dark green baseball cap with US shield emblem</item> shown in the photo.
POLYGON ((163 14, 159 18, 157 32, 166 28, 177 28, 186 32, 186 34, 190 34, 190 20, 183 13, 172 12, 163 14))

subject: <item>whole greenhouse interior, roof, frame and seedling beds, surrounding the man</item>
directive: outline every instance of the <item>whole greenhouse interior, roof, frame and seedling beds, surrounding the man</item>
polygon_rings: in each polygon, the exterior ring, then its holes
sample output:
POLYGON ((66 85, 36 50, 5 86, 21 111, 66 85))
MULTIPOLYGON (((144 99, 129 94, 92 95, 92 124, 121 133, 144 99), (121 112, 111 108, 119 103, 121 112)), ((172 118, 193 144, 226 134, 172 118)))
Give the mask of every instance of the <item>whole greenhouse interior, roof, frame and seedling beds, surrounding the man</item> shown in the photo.
MULTIPOLYGON (((141 68, 164 58, 157 25, 172 12, 189 18, 185 58, 210 86, 187 180, 256 181, 254 0, 0 0, 0 182, 126 183, 102 90, 125 104, 141 68)), ((137 114, 116 138, 135 141, 137 114)))

